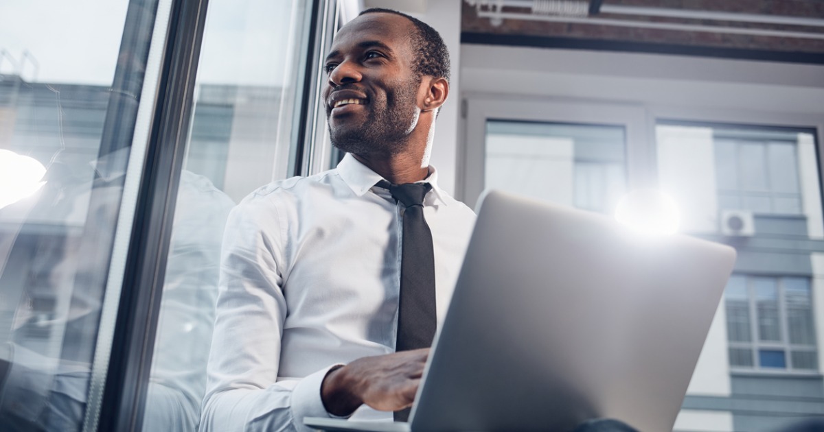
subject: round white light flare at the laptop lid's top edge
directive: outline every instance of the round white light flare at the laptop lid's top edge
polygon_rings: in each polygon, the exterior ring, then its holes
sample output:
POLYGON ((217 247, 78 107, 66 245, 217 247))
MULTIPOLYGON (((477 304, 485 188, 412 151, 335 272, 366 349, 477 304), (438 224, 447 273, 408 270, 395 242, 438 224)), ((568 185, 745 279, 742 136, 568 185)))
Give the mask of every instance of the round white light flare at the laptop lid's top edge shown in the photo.
POLYGON ((681 223, 675 200, 658 189, 627 193, 616 207, 616 221, 644 236, 672 235, 681 223))

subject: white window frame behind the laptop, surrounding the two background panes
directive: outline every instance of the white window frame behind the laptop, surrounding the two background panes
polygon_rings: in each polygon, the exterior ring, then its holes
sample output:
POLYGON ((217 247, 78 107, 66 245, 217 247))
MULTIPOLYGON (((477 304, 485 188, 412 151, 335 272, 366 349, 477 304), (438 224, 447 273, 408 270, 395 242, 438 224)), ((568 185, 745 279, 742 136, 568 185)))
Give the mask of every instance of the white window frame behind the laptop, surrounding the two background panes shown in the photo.
MULTIPOLYGON (((489 119, 504 121, 536 121, 549 123, 593 123, 623 126, 626 131, 627 189, 654 187, 658 182, 658 154, 655 142, 658 122, 675 121, 741 126, 776 126, 815 129, 817 152, 824 155, 824 118, 815 114, 770 112, 758 109, 705 107, 700 105, 661 105, 656 103, 620 103, 607 100, 575 99, 552 96, 503 95, 466 92, 464 97, 464 129, 457 151, 456 197, 475 207, 484 190, 485 132, 489 119)), ((756 107, 757 108, 757 107, 756 107)), ((818 172, 824 176, 824 157, 817 161, 818 172)), ((821 180, 820 180, 821 181, 821 180)), ((824 189, 824 188, 822 188, 824 189)), ((810 231, 816 239, 821 232, 810 231)), ((813 257, 816 260, 816 257, 813 257)), ((815 266, 814 266, 815 272, 815 266)), ((811 278, 813 314, 824 310, 824 274, 811 278)), ((815 372, 788 372, 785 369, 746 369, 749 374, 813 374, 824 371, 824 319, 814 320, 818 369, 815 372)), ((726 323, 723 323, 726 332, 726 323)), ((727 344, 726 334, 724 343, 727 344)), ((727 363, 728 367, 728 363, 727 363)), ((738 370, 736 370, 738 372, 738 370)), ((741 372, 744 372, 742 369, 741 372)))

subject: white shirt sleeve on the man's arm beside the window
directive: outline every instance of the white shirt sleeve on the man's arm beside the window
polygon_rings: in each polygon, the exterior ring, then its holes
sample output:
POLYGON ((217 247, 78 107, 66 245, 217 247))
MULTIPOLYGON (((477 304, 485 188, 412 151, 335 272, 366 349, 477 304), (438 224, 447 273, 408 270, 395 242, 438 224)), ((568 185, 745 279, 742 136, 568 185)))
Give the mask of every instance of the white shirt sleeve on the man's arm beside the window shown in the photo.
POLYGON ((252 197, 232 210, 223 237, 218 304, 200 430, 311 430, 328 416, 321 383, 334 366, 278 381, 283 323, 283 237, 274 202, 252 197))

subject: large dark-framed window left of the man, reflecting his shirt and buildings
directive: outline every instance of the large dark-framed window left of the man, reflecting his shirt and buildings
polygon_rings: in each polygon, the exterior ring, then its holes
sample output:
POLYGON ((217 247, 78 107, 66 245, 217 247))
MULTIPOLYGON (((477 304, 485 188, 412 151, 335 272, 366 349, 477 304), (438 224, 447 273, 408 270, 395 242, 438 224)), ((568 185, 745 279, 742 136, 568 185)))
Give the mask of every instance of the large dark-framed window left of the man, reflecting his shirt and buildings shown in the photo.
POLYGON ((207 2, 75 3, 0 3, 0 429, 196 430, 223 223, 301 165, 334 14, 215 0, 200 49, 207 2))

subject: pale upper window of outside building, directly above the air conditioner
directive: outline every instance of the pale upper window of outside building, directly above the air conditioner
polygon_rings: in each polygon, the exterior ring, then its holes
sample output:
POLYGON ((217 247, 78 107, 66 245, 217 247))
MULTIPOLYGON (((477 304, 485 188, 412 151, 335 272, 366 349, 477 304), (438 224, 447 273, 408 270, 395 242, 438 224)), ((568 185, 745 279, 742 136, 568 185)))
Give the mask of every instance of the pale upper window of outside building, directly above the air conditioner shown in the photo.
POLYGON ((800 215, 795 142, 716 137, 719 207, 800 215))

